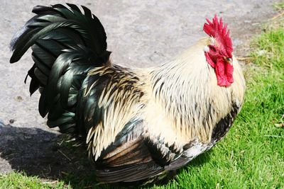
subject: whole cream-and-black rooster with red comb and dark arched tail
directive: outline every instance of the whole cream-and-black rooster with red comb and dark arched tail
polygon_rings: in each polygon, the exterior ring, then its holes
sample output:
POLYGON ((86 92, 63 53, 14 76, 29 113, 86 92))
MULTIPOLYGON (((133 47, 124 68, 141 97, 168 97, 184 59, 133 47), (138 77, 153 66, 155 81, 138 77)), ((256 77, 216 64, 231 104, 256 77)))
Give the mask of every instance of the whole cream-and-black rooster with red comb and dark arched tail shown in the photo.
POLYGON ((88 8, 56 4, 33 13, 11 41, 10 62, 31 47, 27 77, 31 95, 40 91, 40 115, 84 139, 99 181, 165 176, 211 149, 241 110, 244 76, 222 18, 207 19, 209 37, 167 63, 128 69, 112 64, 88 8))

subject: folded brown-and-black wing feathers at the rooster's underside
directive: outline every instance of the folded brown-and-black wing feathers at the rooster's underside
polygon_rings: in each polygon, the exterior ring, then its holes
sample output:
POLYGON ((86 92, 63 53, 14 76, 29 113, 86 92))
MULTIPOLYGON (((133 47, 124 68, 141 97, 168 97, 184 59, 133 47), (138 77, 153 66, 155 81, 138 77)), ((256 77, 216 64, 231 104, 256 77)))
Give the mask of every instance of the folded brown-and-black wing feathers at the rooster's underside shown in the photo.
POLYGON ((95 164, 97 178, 107 183, 141 181, 164 171, 163 167, 158 166, 151 159, 151 154, 141 138, 131 142, 131 147, 110 158, 99 159, 95 164))

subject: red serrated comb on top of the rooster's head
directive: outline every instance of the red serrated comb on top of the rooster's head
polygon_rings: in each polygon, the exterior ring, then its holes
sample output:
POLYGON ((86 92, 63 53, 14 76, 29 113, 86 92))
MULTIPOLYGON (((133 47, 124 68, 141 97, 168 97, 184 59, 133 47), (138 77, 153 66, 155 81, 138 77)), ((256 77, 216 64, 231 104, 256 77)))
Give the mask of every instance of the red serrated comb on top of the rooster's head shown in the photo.
POLYGON ((233 43, 230 38, 230 30, 226 29, 226 24, 223 26, 222 18, 218 21, 217 15, 215 15, 212 22, 208 18, 206 18, 206 21, 208 23, 204 23, 204 32, 217 41, 219 49, 226 57, 231 57, 233 43))

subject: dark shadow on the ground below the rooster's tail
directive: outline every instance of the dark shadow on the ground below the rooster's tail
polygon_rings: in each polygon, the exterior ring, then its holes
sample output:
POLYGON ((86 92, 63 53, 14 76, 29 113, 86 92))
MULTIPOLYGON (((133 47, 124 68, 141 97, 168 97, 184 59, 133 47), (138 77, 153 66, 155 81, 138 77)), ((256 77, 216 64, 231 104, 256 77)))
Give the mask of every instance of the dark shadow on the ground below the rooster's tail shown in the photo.
POLYGON ((72 188, 95 185, 94 166, 85 148, 72 147, 78 142, 66 140, 38 128, 0 125, 0 156, 27 176, 64 181, 72 188))

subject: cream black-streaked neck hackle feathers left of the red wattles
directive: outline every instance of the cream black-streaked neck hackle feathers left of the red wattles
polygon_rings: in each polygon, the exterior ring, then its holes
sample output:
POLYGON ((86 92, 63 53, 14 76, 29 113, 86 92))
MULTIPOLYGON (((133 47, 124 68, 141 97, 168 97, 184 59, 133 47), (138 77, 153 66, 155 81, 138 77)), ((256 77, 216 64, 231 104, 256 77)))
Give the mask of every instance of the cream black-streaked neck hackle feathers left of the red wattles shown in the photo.
POLYGON ((200 40, 151 72, 153 97, 163 106, 163 114, 172 121, 173 130, 202 142, 210 141, 214 125, 223 116, 219 111, 229 110, 231 104, 229 91, 217 86, 214 69, 204 57, 207 42, 208 38, 200 40), (217 94, 225 98, 222 103, 214 103, 217 94))

